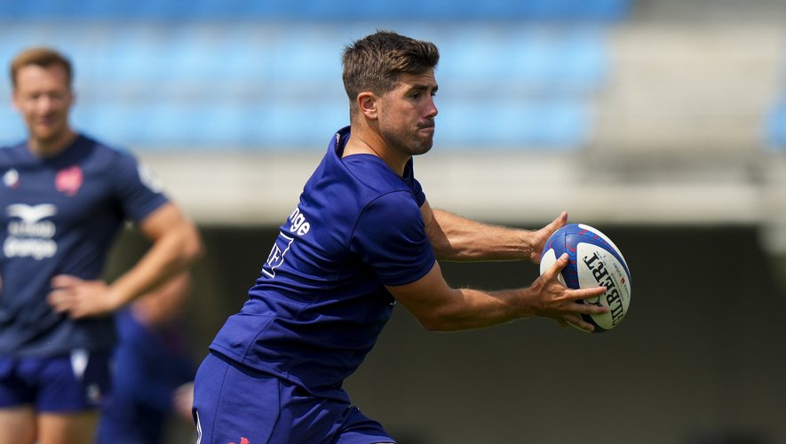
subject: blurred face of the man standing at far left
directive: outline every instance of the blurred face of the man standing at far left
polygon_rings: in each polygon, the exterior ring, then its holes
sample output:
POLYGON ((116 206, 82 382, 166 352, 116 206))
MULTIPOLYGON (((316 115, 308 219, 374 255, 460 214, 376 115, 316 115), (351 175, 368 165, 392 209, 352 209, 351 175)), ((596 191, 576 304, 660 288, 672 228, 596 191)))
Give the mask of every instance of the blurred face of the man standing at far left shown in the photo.
POLYGON ((70 131, 68 110, 73 102, 63 67, 28 65, 17 71, 13 105, 22 114, 34 143, 44 145, 65 137, 70 131))

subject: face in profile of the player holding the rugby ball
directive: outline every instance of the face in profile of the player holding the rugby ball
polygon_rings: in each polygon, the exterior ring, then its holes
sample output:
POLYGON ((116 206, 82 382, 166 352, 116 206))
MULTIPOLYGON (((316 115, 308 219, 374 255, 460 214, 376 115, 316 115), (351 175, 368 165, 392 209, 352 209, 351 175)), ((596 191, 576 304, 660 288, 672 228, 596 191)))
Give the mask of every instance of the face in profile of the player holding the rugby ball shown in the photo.
POLYGON ((402 74, 393 91, 382 97, 379 131, 390 147, 404 155, 427 153, 434 139, 434 93, 437 81, 433 70, 422 75, 402 74))

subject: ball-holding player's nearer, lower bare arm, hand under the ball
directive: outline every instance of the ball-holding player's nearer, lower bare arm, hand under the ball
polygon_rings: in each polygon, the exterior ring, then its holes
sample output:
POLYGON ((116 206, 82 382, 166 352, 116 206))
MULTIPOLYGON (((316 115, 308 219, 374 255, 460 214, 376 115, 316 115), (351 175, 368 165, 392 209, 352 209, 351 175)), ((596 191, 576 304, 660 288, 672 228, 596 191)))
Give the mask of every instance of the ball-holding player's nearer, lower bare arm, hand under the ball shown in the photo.
POLYGON ((606 313, 608 308, 578 301, 602 295, 606 288, 568 289, 557 278, 567 264, 568 255, 563 255, 524 289, 482 291, 450 288, 435 263, 421 279, 387 289, 425 329, 433 331, 480 329, 532 316, 591 331, 592 325, 580 314, 606 313))

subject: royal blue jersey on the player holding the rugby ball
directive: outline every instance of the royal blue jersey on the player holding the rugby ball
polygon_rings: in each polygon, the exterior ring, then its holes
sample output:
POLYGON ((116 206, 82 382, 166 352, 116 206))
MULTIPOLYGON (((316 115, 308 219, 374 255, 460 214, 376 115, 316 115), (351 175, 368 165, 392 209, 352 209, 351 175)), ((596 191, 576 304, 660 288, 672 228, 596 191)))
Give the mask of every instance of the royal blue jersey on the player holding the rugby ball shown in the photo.
POLYGON ((412 161, 402 178, 376 155, 342 158, 347 139, 344 128, 330 142, 248 301, 210 345, 339 400, 393 312, 385 284, 417 281, 436 261, 412 161))

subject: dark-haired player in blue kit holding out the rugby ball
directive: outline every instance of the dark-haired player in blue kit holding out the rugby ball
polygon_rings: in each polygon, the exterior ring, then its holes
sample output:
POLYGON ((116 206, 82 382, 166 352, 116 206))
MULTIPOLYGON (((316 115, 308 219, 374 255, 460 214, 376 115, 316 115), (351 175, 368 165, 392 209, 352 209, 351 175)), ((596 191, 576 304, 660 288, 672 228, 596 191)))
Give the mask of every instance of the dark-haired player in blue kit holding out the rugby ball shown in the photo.
POLYGON ((345 378, 398 303, 429 330, 479 329, 544 316, 581 329, 579 304, 602 287, 567 289, 563 255, 528 288, 454 289, 437 258, 539 262, 563 213, 535 231, 432 210, 413 156, 433 144, 434 44, 377 32, 345 48, 350 124, 330 139, 261 277, 229 317, 195 378, 202 443, 393 442, 350 404, 345 378))

